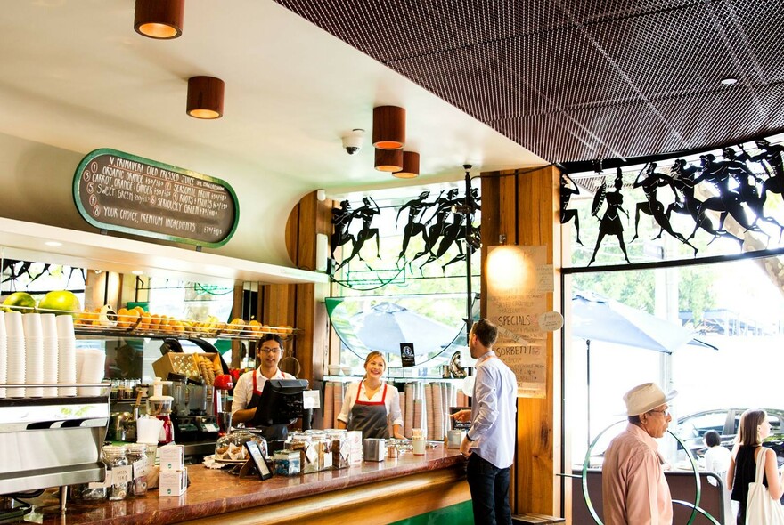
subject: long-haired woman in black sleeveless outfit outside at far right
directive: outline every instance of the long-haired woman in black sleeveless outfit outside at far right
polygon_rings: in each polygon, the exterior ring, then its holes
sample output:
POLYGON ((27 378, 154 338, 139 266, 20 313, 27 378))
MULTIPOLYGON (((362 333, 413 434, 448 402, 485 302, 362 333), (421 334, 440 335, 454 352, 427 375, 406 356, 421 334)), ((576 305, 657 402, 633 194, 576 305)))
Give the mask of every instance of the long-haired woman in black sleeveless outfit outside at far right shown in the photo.
MULTIPOLYGON (((727 471, 727 489, 731 490, 731 499, 739 503, 737 524, 746 525, 748 484, 755 481, 755 457, 760 448, 764 448, 765 451, 764 486, 777 502, 784 493, 784 488, 779 477, 776 453, 772 448, 762 446, 762 441, 771 433, 771 424, 765 411, 749 408, 740 416, 738 430, 738 438, 732 449, 730 469, 727 471)), ((749 523, 748 525, 762 524, 749 523)))

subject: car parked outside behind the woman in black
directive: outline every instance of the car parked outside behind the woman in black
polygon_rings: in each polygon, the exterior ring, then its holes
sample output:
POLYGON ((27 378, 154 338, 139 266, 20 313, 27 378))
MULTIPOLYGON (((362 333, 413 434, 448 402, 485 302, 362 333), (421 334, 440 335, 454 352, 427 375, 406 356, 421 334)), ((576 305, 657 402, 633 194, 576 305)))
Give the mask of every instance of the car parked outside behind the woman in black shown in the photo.
MULTIPOLYGON (((765 447, 770 447, 779 456, 779 465, 784 464, 784 409, 764 408, 771 422, 771 435, 765 440, 765 447)), ((732 449, 735 436, 738 434, 740 416, 746 408, 715 408, 703 410, 688 416, 678 418, 677 431, 679 438, 690 449, 695 457, 705 454, 705 441, 703 436, 709 430, 719 432, 722 437, 723 447, 732 449)), ((679 446, 680 448, 680 446, 679 446)))

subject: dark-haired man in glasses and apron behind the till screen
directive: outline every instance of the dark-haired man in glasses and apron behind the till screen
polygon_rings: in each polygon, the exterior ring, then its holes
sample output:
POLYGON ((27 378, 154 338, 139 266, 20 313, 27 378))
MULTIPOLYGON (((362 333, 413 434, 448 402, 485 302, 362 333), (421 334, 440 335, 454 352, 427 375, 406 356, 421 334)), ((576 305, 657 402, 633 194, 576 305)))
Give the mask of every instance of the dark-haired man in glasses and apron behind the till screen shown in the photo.
POLYGON ((278 363, 283 357, 281 336, 267 334, 261 341, 261 346, 257 350, 257 359, 260 363, 258 368, 242 374, 234 386, 232 424, 253 421, 258 400, 268 379, 295 379, 294 376, 278 368, 278 363))

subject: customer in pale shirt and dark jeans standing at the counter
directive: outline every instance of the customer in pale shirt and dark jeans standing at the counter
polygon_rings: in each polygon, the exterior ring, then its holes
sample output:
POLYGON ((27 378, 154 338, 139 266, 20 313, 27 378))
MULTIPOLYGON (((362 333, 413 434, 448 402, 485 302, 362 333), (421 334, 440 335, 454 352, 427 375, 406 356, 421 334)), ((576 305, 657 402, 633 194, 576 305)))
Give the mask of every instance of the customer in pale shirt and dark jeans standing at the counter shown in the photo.
POLYGON ((514 461, 517 379, 495 355, 498 328, 479 319, 470 330, 471 357, 478 359, 470 410, 453 414, 470 421, 460 451, 469 458, 466 477, 471 491, 474 523, 511 525, 510 466, 514 461))

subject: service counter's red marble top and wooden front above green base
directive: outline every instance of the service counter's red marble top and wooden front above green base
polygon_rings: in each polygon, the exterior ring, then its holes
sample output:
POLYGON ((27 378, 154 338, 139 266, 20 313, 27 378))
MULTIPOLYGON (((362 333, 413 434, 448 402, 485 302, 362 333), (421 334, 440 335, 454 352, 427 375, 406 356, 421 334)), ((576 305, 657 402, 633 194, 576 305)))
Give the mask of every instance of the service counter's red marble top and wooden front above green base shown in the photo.
POLYGON ((146 525, 192 522, 336 523, 362 520, 391 523, 470 500, 465 460, 440 444, 425 456, 364 462, 347 469, 297 476, 239 478, 201 464, 188 467, 191 485, 181 497, 145 497, 123 501, 69 501, 64 516, 53 512, 51 494, 33 501, 44 506, 43 523, 59 525, 146 525))

